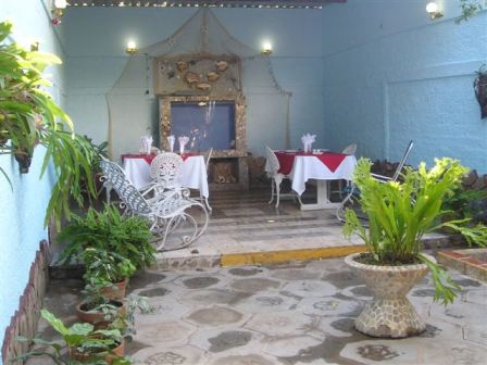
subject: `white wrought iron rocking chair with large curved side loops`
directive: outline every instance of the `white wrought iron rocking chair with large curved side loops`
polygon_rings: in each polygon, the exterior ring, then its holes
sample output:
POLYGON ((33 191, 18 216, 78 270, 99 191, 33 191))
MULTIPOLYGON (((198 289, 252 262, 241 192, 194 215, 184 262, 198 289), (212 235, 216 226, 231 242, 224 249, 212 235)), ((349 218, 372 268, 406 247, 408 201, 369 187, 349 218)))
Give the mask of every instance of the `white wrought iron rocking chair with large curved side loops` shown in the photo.
POLYGON ((121 166, 111 162, 102 161, 100 163, 103 176, 101 180, 108 190, 114 189, 121 202, 121 207, 125 210, 125 214, 138 215, 150 222, 150 230, 154 234, 154 243, 160 251, 178 250, 188 247, 195 242, 208 227, 208 212, 201 203, 189 199, 187 189, 165 191, 158 194, 155 186, 149 188, 142 194, 125 176, 125 172, 121 166), (153 197, 146 199, 146 194, 154 192, 153 197), (203 212, 203 223, 198 224, 196 218, 188 212, 191 207, 200 207, 203 212), (187 227, 183 227, 187 223, 192 226, 191 232, 187 234, 187 227), (180 229, 180 243, 171 248, 166 248, 167 236, 175 235, 180 229))

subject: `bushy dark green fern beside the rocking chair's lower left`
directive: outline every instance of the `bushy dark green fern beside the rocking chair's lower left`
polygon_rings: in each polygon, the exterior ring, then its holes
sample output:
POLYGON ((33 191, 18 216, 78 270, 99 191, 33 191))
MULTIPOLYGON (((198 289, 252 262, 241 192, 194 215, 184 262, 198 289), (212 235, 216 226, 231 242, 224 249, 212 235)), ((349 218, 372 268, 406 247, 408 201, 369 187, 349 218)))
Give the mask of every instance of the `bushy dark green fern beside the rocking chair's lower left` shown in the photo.
POLYGON ((60 260, 70 262, 73 256, 93 248, 128 259, 139 269, 154 261, 151 237, 143 218, 122 216, 116 207, 109 204, 101 212, 90 207, 86 217, 74 216, 58 236, 60 242, 68 242, 60 260))

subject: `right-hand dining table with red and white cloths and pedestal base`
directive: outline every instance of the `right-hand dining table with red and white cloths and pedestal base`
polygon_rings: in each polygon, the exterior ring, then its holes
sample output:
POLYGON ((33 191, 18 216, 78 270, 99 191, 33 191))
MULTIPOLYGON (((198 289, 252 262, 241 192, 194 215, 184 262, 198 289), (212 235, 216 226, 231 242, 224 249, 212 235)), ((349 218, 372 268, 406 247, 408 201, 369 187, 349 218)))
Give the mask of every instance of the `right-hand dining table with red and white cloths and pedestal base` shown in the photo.
MULTIPOLYGON (((335 209, 339 203, 333 203, 328 198, 329 180, 352 179, 357 159, 352 154, 344 154, 321 150, 316 152, 276 151, 279 161, 279 174, 291 180, 291 189, 301 197, 308 180, 316 180, 316 202, 303 203, 302 211, 335 209)), ((266 171, 270 171, 266 165, 266 171)))

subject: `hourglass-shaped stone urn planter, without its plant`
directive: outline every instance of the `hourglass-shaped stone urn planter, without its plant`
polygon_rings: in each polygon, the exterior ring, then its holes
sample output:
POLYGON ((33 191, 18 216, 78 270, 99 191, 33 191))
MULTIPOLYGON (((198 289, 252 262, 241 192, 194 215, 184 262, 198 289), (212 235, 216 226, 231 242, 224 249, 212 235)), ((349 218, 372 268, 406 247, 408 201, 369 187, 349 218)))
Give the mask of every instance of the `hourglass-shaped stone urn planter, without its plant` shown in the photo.
POLYGON ((354 259, 360 253, 345 257, 345 263, 361 276, 374 293, 355 319, 355 328, 373 337, 403 338, 420 335, 426 325, 405 298, 411 288, 427 273, 425 264, 403 266, 366 265, 354 259))

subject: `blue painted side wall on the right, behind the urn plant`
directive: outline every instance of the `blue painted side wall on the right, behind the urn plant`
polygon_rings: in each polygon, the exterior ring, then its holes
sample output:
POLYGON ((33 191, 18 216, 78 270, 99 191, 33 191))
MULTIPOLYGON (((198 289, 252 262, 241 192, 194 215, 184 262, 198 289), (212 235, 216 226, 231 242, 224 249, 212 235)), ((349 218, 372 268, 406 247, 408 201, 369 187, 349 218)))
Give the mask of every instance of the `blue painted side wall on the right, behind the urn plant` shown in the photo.
POLYGON ((323 14, 326 144, 411 163, 452 156, 487 173, 487 121, 472 87, 487 61, 487 13, 457 25, 458 0, 348 0, 323 14))

